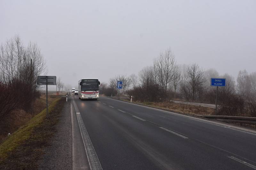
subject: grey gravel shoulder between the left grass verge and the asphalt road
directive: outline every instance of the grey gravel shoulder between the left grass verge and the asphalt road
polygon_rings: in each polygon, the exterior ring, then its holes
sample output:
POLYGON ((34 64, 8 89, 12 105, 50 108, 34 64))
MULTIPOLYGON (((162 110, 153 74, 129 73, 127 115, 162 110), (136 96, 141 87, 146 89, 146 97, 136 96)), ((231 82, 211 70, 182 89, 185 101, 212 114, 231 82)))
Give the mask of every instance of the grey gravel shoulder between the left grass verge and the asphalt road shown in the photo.
POLYGON ((42 150, 44 154, 38 160, 38 169, 72 169, 70 101, 63 106, 60 121, 48 144, 42 150))

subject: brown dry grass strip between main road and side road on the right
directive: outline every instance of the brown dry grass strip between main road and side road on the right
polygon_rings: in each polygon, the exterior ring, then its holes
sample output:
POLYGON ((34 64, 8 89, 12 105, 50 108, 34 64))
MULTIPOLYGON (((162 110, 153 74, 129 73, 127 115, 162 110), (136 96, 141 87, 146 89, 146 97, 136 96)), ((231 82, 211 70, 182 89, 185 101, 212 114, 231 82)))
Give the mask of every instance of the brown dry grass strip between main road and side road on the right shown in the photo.
MULTIPOLYGON (((124 100, 127 101, 128 100, 124 100)), ((133 102, 136 104, 149 106, 157 109, 172 111, 184 115, 213 115, 214 109, 202 107, 202 106, 195 106, 189 104, 181 104, 181 103, 174 103, 174 102, 133 102)))

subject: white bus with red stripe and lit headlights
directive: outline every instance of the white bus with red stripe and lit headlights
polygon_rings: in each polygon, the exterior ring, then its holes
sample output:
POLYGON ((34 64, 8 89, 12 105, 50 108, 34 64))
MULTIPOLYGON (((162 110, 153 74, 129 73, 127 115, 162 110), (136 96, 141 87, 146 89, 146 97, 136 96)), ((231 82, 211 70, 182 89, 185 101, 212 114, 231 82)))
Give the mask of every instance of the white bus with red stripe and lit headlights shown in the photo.
POLYGON ((100 81, 97 78, 84 78, 78 81, 78 98, 98 100, 100 81))

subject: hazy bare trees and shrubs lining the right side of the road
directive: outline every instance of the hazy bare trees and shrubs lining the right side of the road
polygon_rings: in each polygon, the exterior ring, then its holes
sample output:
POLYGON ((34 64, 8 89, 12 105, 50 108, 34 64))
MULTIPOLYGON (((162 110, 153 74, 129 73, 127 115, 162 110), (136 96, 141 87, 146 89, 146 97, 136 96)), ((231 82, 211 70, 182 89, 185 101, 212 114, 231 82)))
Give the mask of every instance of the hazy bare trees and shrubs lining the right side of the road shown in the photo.
POLYGON ((219 114, 256 117, 256 72, 239 72, 237 79, 229 74, 219 75, 215 69, 204 70, 198 64, 176 64, 171 48, 161 52, 153 65, 144 67, 137 75, 117 75, 104 84, 102 93, 114 96, 116 83, 124 82, 124 93, 138 101, 179 99, 191 102, 215 103, 216 87, 211 78, 226 78, 226 87, 219 88, 219 114), (105 92, 104 92, 105 91, 105 92))

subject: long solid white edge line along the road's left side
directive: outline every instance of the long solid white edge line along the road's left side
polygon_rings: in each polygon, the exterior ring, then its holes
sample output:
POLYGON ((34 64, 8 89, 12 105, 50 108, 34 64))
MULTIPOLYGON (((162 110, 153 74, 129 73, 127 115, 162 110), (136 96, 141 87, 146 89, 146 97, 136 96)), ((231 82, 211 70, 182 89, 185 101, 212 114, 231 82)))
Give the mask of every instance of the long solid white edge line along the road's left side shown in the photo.
POLYGON ((82 139, 84 142, 84 148, 86 151, 86 155, 88 158, 88 162, 89 162, 89 166, 91 170, 102 170, 102 167, 100 165, 100 161, 99 158, 94 150, 94 147, 92 145, 92 141, 89 137, 89 134, 86 130, 86 127, 84 125, 84 121, 81 117, 81 114, 78 110, 78 107, 76 105, 76 102, 73 100, 74 106, 75 106, 75 110, 76 110, 76 117, 77 117, 77 121, 79 124, 79 128, 80 128, 80 132, 82 135, 82 139))

